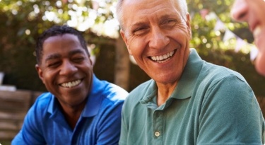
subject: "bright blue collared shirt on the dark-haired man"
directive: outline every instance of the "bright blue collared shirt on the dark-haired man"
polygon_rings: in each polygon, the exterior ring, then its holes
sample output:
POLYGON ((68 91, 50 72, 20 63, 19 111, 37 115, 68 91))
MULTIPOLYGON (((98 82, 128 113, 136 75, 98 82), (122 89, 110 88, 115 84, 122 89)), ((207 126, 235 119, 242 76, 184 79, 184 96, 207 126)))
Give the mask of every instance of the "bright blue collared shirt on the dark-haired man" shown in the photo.
POLYGON ((71 129, 51 93, 40 95, 12 144, 118 144, 121 110, 128 93, 93 75, 93 86, 76 127, 71 129))

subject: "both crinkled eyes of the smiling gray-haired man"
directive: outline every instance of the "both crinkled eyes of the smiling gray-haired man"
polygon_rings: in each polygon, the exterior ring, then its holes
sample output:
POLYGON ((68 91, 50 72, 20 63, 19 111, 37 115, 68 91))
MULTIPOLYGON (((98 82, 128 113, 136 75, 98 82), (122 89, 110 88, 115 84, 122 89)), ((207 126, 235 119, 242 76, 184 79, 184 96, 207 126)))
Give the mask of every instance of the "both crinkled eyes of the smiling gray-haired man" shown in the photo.
MULTIPOLYGON (((167 29, 170 30, 171 28, 173 28, 175 25, 177 24, 177 20, 175 19, 167 19, 166 21, 163 21, 162 23, 159 24, 159 27, 162 29, 167 29)), ((134 35, 143 35, 145 33, 148 32, 148 30, 150 30, 150 26, 149 25, 139 25, 137 26, 132 33, 134 35)))

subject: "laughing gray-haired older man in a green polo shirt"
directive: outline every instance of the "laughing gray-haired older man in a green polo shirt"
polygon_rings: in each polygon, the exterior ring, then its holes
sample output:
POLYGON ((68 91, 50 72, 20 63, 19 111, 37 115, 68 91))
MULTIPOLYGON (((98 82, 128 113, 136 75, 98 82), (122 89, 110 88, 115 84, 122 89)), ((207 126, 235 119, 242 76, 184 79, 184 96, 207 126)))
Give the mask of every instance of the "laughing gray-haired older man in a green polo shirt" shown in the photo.
POLYGON ((264 144, 264 117, 245 79, 202 60, 185 0, 119 0, 126 47, 151 77, 129 93, 120 145, 264 144))

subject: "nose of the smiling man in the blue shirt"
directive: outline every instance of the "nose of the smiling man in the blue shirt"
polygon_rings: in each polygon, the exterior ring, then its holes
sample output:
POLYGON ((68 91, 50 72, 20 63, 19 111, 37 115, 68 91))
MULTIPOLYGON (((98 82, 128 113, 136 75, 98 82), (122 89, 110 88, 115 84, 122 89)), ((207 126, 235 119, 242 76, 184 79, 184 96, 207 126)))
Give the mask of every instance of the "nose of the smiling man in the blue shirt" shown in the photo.
POLYGON ((78 69, 74 64, 69 61, 64 61, 61 65, 60 74, 63 76, 71 76, 72 74, 76 73, 78 69))

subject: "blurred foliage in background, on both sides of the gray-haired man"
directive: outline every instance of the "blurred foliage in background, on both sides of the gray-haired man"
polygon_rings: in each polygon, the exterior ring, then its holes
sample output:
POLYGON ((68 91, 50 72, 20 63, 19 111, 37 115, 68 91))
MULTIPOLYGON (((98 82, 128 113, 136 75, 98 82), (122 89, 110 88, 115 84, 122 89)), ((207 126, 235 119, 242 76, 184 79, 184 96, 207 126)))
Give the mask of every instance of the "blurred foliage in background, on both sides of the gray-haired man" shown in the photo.
MULTIPOLYGON (((192 17, 191 47, 196 48, 203 59, 214 64, 239 71, 257 95, 265 95, 264 77, 259 76, 249 60, 248 51, 234 52, 235 40, 223 42, 225 31, 214 31, 216 19, 206 20, 202 12, 214 12, 237 36, 251 43, 253 37, 246 23, 235 23, 230 18, 230 0, 187 0, 192 17)), ((34 91, 45 91, 35 71, 35 40, 40 33, 52 25, 83 23, 83 34, 95 49, 92 54, 100 55, 95 64, 96 74, 102 79, 113 81, 114 39, 106 37, 102 25, 114 18, 113 1, 95 3, 87 0, 0 0, 0 71, 6 76, 4 84, 34 91), (51 17, 52 16, 52 17, 51 17), (76 16, 76 17, 75 17, 76 16), (95 17, 93 17, 95 16, 95 17), (112 50, 112 52, 108 52, 112 50), (107 52, 107 53, 106 53, 107 52), (107 65, 106 65, 107 62, 107 65), (112 63, 112 64, 111 64, 112 63), (107 66, 111 66, 107 71, 107 66)), ((79 28, 80 25, 76 25, 79 28)), ((131 67, 131 80, 138 76, 149 79, 138 66, 131 67)), ((134 81, 130 89, 145 79, 134 81)))

